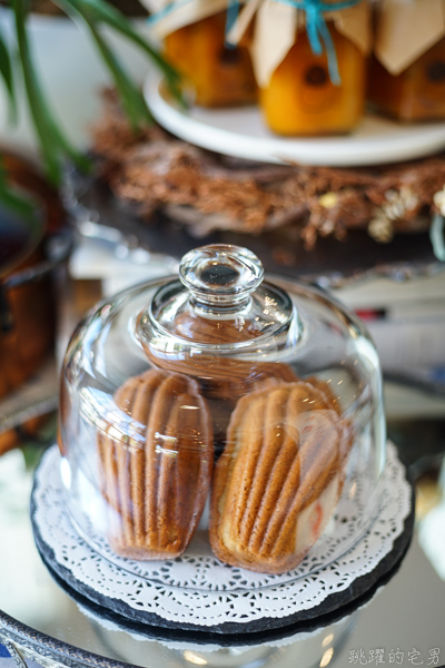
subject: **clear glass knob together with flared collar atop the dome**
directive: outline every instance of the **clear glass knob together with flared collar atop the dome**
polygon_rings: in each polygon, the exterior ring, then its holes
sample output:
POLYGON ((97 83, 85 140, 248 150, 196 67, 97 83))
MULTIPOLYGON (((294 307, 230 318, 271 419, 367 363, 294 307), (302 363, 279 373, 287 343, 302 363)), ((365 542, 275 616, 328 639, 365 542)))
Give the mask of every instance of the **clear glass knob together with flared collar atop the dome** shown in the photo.
POLYGON ((279 286, 261 285, 263 277, 261 263, 247 248, 212 244, 190 250, 179 279, 162 284, 137 317, 136 337, 157 363, 160 354, 182 355, 191 342, 233 351, 267 335, 275 345, 277 333, 293 323, 298 330, 299 321, 290 297, 279 286))

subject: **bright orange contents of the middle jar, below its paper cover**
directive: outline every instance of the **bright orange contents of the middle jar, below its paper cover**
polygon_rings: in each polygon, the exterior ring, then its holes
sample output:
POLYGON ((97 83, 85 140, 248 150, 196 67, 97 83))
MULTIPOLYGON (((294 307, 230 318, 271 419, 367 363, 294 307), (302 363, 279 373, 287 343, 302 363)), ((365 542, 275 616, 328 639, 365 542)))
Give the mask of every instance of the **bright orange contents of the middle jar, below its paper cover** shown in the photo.
POLYGON ((365 57, 333 23, 333 37, 342 85, 334 86, 326 53, 313 53, 306 31, 260 90, 267 125, 278 135, 348 132, 360 120, 365 98, 365 57))

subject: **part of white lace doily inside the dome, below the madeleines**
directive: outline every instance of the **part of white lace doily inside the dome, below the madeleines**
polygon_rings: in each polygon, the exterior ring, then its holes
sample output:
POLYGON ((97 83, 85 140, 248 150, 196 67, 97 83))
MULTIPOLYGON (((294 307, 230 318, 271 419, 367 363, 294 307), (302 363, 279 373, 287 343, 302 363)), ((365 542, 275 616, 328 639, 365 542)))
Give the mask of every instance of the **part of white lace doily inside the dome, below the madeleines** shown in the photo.
MULTIPOLYGON (((90 464, 91 470, 95 470, 93 460, 90 464)), ((68 536, 65 524, 60 525, 58 514, 50 523, 46 522, 47 529, 53 532, 49 544, 55 542, 58 546, 57 559, 60 563, 70 561, 72 541, 77 544, 78 534, 80 534, 106 560, 136 577, 167 587, 180 587, 192 591, 197 589, 221 592, 239 589, 251 590, 260 587, 276 587, 301 577, 308 578, 314 572, 339 559, 364 536, 375 519, 379 507, 385 503, 387 494, 383 489, 383 481, 380 480, 376 485, 369 475, 366 458, 357 456, 357 452, 352 453, 348 460, 347 482, 344 484, 340 499, 325 531, 297 568, 280 576, 270 576, 229 567, 215 557, 208 539, 208 507, 190 544, 181 557, 162 561, 136 561, 119 557, 112 551, 105 538, 109 524, 109 509, 103 495, 91 484, 91 481, 80 468, 77 478, 77 500, 67 503, 73 523, 73 531, 71 528, 68 536), (79 489, 81 489, 81 492, 79 492, 79 489), (81 503, 79 499, 82 500, 81 503), (60 531, 63 531, 63 536, 60 536, 60 531)), ((44 491, 41 502, 39 502, 39 504, 47 507, 46 517, 53 512, 56 497, 52 493, 55 492, 57 497, 59 493, 66 494, 61 479, 66 480, 66 484, 72 484, 68 461, 55 456, 55 461, 48 469, 47 481, 43 484, 44 491)), ((46 541, 44 538, 43 540, 46 541)))

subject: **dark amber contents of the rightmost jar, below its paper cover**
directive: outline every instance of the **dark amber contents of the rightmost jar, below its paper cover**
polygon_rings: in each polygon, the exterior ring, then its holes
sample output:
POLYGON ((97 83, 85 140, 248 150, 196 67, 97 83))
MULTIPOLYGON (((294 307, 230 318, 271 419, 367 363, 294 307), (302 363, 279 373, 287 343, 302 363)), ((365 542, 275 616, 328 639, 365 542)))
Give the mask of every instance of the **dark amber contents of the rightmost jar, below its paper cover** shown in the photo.
POLYGON ((445 118, 445 38, 396 77, 373 58, 368 97, 398 120, 445 118))

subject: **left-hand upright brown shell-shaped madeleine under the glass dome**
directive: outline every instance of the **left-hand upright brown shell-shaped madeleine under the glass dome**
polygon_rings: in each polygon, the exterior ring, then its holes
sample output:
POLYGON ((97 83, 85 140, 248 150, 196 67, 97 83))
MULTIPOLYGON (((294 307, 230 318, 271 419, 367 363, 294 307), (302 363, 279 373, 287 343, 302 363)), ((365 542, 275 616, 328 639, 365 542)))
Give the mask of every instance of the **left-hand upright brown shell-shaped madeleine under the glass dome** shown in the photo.
MULTIPOLYGON (((214 445, 197 383, 151 370, 115 394, 129 419, 98 435, 101 490, 112 549, 132 559, 165 559, 187 548, 209 491, 214 445), (142 438, 128 438, 131 432, 142 438)), ((125 418, 125 416, 123 416, 125 418)))

